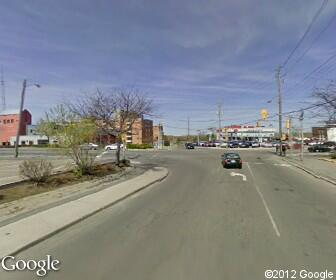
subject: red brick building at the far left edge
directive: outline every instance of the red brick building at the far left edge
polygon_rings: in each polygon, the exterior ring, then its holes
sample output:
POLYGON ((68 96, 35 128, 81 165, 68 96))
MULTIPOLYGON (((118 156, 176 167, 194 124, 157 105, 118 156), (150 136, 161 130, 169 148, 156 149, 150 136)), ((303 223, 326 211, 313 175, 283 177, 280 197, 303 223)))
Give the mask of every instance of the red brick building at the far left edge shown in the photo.
MULTIPOLYGON (((16 136, 20 114, 18 110, 7 110, 0 113, 0 145, 10 145, 10 138, 16 136)), ((26 135, 27 125, 31 125, 32 115, 28 110, 22 111, 20 135, 26 135)))

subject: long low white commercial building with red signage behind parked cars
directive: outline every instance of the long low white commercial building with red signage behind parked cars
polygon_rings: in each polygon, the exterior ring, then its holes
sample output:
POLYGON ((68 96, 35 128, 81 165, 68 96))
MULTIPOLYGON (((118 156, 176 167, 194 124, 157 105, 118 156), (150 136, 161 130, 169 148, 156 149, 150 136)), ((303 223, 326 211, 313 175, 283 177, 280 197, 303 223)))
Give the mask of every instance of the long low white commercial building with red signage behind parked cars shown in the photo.
POLYGON ((217 130, 217 139, 265 142, 273 140, 275 133, 273 127, 231 125, 217 130))

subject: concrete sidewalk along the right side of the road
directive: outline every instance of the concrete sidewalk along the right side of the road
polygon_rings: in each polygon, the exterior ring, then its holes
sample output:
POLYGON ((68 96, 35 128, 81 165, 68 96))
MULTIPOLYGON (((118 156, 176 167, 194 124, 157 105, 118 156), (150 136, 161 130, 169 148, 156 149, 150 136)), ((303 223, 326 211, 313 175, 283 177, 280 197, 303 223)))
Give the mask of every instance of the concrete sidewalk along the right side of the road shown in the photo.
POLYGON ((323 160, 323 157, 323 155, 305 156, 303 157, 303 161, 297 156, 287 156, 283 159, 319 179, 325 179, 325 181, 336 185, 336 164, 323 160))

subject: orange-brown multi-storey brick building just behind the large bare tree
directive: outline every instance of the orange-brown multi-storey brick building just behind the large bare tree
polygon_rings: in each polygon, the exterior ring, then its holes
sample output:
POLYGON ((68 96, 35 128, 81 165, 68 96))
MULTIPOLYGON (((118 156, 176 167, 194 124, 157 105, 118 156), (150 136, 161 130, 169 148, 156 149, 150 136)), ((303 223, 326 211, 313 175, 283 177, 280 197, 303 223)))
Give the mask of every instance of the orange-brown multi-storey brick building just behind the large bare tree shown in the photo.
POLYGON ((153 121, 136 119, 124 140, 127 144, 153 144, 153 121))

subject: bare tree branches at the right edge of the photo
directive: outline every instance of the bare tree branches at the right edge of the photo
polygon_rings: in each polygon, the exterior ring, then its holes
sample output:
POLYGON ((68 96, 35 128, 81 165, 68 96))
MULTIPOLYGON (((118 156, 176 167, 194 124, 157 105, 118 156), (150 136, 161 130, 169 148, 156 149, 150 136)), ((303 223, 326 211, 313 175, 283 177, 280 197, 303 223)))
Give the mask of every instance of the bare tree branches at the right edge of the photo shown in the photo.
POLYGON ((336 84, 330 82, 324 88, 317 88, 313 92, 314 111, 316 117, 326 119, 328 122, 336 121, 336 84))

